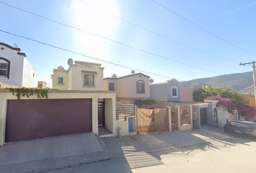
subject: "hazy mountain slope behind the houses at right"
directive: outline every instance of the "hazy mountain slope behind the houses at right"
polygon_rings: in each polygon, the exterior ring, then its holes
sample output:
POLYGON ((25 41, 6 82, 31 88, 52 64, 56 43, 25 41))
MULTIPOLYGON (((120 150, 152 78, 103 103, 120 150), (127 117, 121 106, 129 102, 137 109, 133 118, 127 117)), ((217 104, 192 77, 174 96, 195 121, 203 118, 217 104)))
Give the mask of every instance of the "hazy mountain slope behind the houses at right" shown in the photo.
POLYGON ((183 86, 225 86, 232 90, 242 93, 254 93, 252 71, 241 74, 226 74, 210 78, 193 79, 191 81, 182 81, 183 86))

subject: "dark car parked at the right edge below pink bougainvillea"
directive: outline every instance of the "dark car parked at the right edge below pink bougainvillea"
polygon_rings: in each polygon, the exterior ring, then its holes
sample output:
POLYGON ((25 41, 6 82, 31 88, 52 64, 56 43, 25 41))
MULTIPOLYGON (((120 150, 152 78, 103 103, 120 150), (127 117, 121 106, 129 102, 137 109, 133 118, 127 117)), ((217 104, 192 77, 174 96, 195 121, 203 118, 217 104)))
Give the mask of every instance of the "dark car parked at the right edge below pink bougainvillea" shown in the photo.
POLYGON ((256 123, 252 121, 231 120, 224 126, 226 133, 236 133, 256 137, 256 123))

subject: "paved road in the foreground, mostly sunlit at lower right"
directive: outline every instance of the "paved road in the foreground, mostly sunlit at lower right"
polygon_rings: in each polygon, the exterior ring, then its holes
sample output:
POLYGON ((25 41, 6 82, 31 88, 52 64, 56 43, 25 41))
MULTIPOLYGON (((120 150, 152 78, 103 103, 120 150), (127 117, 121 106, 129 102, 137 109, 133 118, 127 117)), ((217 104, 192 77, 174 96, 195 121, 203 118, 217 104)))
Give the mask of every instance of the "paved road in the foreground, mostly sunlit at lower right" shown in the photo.
POLYGON ((235 136, 150 152, 136 151, 134 146, 121 148, 124 156, 118 158, 48 172, 255 172, 256 143, 250 138, 235 136))

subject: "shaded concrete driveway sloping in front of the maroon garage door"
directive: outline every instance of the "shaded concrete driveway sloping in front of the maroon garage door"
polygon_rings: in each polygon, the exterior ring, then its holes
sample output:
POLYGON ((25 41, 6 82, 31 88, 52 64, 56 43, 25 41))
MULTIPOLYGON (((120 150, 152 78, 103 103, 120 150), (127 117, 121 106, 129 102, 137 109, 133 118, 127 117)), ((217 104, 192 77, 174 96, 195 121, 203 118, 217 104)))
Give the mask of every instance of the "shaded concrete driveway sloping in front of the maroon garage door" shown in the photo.
POLYGON ((7 143, 0 148, 0 166, 103 151, 93 133, 7 143))

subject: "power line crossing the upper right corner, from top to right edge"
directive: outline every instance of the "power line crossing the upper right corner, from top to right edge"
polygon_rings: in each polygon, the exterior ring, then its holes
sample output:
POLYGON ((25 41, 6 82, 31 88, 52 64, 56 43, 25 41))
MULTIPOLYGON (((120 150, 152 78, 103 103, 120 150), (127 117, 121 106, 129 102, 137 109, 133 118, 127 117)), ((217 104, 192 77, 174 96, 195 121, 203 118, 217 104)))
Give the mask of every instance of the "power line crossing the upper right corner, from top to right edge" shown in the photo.
POLYGON ((191 23, 192 25, 195 25, 196 27, 199 27, 201 30, 204 30, 205 32, 208 32, 210 35, 213 35, 214 37, 217 37, 218 39, 222 40, 223 42, 228 43, 229 45, 232 45, 233 47, 238 48, 239 50, 242 50, 242 51, 244 51, 244 52, 250 54, 251 56, 256 56, 255 54, 249 53, 247 50, 244 50, 244 49, 242 49, 242 48, 239 48, 238 46, 236 46, 236 45, 230 43, 229 41, 224 40, 224 39, 221 38, 221 37, 218 37, 218 35, 213 34, 213 32, 210 32, 210 31, 208 31, 208 30, 205 30, 205 28, 200 27, 199 25, 195 24, 194 22, 190 21, 189 19, 187 19, 187 18, 185 18, 185 17, 182 17, 182 15, 180 15, 180 14, 174 12, 174 11, 171 10, 171 9, 168 9, 166 6, 163 6, 162 4, 158 3, 157 1, 154 1, 154 0, 152 0, 152 1, 155 2, 155 4, 158 4, 159 6, 162 6, 163 8, 167 9, 168 11, 170 11, 170 12, 176 14, 177 16, 181 17, 182 19, 186 20, 187 22, 191 23))

